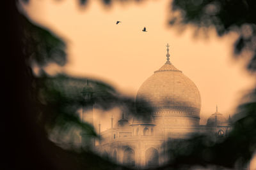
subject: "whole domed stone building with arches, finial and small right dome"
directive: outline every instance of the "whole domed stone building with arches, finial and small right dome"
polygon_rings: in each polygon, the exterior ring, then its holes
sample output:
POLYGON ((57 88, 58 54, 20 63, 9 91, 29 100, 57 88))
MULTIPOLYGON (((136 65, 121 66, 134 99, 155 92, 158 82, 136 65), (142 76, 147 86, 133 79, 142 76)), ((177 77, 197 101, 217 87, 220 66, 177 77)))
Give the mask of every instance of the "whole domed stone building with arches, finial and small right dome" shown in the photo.
POLYGON ((169 159, 166 142, 172 145, 200 133, 212 138, 228 135, 230 118, 225 118, 218 108, 206 125, 199 124, 200 92, 170 62, 168 47, 165 64, 144 81, 136 95, 136 114, 142 116, 129 122, 122 113, 115 125, 112 117, 111 128, 99 132, 102 139, 95 150, 103 157, 131 167, 157 167, 169 159), (147 106, 150 109, 145 109, 147 106))

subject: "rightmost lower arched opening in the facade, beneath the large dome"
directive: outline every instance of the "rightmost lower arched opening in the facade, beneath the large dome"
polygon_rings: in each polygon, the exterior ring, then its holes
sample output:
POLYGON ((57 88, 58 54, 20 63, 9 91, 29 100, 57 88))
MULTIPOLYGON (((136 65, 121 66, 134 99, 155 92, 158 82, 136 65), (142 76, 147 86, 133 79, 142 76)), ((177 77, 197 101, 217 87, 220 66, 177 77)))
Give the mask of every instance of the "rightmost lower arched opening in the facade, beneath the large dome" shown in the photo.
POLYGON ((148 148, 145 152, 145 158, 147 167, 159 166, 159 154, 156 148, 148 148))

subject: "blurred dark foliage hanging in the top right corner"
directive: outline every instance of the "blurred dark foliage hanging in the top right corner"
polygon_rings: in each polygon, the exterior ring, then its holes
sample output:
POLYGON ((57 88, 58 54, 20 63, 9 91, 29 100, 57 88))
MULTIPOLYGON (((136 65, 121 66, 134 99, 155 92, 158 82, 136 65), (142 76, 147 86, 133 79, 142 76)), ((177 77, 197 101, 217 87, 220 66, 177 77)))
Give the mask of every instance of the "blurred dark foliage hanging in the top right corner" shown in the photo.
POLYGON ((249 53, 248 71, 256 71, 256 1, 174 0, 171 8, 169 23, 179 30, 193 25, 197 31, 205 32, 214 27, 219 36, 237 32, 234 53, 237 56, 249 53))

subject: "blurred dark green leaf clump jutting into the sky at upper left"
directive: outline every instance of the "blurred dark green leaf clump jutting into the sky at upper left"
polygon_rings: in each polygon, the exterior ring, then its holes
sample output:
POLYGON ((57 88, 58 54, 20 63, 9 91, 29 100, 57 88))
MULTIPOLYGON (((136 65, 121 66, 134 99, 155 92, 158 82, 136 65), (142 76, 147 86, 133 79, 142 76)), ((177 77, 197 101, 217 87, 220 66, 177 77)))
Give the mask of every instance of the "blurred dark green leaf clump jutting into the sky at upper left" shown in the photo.
POLYGON ((30 64, 43 67, 54 62, 64 66, 67 62, 65 43, 49 30, 29 22, 28 18, 20 16, 20 20, 23 20, 22 23, 26 27, 22 30, 24 36, 22 43, 26 45, 23 52, 24 55, 29 56, 30 64))

